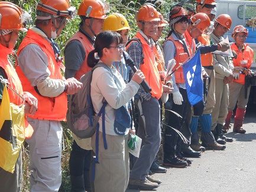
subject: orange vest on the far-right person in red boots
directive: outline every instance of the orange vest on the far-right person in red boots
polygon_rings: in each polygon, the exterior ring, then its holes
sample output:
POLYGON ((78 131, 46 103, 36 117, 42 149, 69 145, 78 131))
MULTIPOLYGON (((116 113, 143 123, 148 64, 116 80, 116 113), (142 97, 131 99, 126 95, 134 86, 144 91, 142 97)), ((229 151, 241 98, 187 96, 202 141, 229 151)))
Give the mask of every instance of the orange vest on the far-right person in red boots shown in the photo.
MULTIPOLYGON (((238 47, 236 47, 235 43, 231 45, 231 49, 235 51, 237 54, 236 58, 233 58, 233 64, 234 67, 240 66, 240 61, 242 60, 248 60, 248 63, 245 67, 247 69, 250 69, 251 64, 253 62, 253 50, 251 47, 248 46, 248 44, 244 44, 245 50, 239 51, 238 47)), ((240 78, 238 80, 233 80, 236 83, 245 84, 245 74, 240 73, 240 78)))

